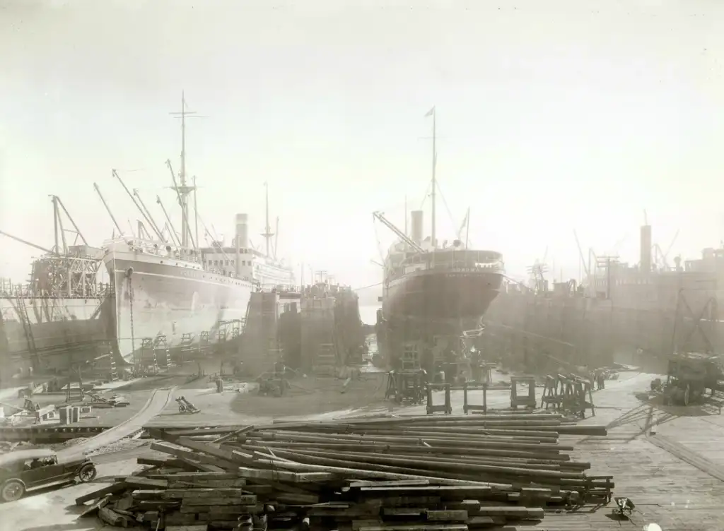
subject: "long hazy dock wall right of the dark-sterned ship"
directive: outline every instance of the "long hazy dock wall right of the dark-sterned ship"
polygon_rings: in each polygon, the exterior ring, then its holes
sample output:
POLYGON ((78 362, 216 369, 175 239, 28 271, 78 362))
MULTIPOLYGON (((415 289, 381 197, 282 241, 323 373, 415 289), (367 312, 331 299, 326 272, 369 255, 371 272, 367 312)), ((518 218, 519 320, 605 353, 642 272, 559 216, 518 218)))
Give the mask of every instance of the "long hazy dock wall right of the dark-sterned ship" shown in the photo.
POLYGON ((724 293, 682 288, 660 295, 501 293, 485 315, 484 350, 532 373, 556 370, 558 362, 563 368, 618 362, 660 370, 660 360, 675 351, 724 352, 717 314, 724 293))

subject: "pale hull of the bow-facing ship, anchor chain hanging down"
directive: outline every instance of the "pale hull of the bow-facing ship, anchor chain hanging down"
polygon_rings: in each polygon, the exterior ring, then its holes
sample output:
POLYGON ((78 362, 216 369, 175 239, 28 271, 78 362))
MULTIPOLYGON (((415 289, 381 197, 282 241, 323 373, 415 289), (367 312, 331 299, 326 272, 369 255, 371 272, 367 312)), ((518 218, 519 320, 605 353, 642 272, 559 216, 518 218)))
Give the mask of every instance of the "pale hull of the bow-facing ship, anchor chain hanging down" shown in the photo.
POLYGON ((198 344, 206 331, 213 341, 220 322, 245 318, 249 281, 132 251, 109 251, 104 263, 114 279, 115 339, 125 362, 135 361, 143 339, 163 338, 173 349, 198 344))

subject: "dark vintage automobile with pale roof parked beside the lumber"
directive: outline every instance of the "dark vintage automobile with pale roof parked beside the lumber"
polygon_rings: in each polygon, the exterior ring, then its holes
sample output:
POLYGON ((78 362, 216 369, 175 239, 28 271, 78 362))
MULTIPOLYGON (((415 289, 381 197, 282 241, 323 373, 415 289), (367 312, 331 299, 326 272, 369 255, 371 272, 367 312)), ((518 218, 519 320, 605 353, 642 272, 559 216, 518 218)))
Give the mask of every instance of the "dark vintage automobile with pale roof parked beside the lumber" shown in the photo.
POLYGON ((55 483, 96 479, 96 465, 87 457, 58 459, 54 451, 32 449, 0 454, 0 499, 15 501, 26 490, 55 483))

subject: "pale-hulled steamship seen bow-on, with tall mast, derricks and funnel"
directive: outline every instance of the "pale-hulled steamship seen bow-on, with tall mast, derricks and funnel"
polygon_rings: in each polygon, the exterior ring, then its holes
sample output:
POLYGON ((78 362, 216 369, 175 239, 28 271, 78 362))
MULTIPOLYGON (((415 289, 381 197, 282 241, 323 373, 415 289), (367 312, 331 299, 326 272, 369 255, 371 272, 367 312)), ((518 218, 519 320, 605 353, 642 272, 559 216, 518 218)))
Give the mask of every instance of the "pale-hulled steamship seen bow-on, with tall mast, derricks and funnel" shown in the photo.
MULTIPOLYGON (((274 234, 269 227, 268 191, 266 231, 262 234, 267 242, 266 255, 253 249, 249 242, 246 214, 236 216, 233 247, 224 247, 219 241, 214 241, 210 247, 201 247, 198 242, 198 216, 193 236, 188 195, 196 188, 195 184, 187 184, 186 114, 185 102, 182 101, 182 153, 178 184, 171 171, 173 189, 181 206, 180 237, 168 216, 164 235, 164 230, 159 229, 148 213, 138 192, 131 194, 121 181, 151 229, 146 231, 139 227, 139 234, 146 232, 144 238, 138 235, 119 237, 105 244, 103 260, 117 294, 114 307, 117 349, 122 359, 129 363, 134 362, 134 354, 139 352, 144 341, 146 344, 150 341, 154 346, 162 343, 172 349, 198 344, 202 333, 208 332, 209 341, 213 342, 216 339, 214 331, 222 323, 245 319, 252 292, 288 289, 295 283, 291 268, 276 260, 270 250, 269 239, 274 234), (155 237, 151 237, 151 232, 155 237)), ((167 164, 171 169, 171 163, 167 164)), ((157 202, 161 204, 159 197, 157 202)), ((120 231, 120 227, 116 226, 120 231)), ((206 234, 209 234, 208 229, 206 234)))

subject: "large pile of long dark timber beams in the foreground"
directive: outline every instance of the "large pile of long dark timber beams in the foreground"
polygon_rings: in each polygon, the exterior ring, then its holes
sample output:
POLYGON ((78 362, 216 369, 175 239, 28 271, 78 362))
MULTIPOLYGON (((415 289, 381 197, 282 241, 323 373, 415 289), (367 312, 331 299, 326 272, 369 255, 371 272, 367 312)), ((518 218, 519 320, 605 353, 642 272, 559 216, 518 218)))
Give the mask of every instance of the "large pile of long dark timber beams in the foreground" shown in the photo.
POLYGON ((167 530, 515 530, 610 496, 561 431, 605 435, 523 412, 151 430, 150 468, 77 503, 167 530))

